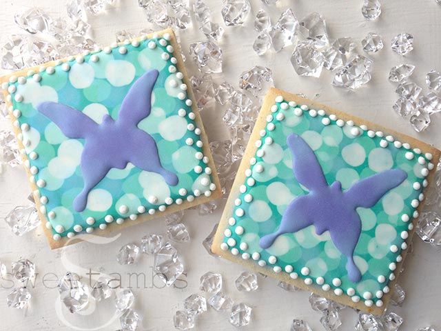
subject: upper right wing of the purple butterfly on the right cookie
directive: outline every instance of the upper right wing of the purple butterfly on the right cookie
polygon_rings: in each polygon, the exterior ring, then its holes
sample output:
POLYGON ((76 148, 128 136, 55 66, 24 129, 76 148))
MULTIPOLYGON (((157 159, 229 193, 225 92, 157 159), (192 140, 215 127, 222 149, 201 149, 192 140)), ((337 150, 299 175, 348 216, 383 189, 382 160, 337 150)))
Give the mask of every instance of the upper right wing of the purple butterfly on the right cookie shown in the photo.
POLYGON ((406 178, 407 173, 404 170, 385 170, 353 183, 353 185, 344 192, 345 198, 349 203, 352 203, 354 207, 371 208, 384 194, 396 188, 406 178))

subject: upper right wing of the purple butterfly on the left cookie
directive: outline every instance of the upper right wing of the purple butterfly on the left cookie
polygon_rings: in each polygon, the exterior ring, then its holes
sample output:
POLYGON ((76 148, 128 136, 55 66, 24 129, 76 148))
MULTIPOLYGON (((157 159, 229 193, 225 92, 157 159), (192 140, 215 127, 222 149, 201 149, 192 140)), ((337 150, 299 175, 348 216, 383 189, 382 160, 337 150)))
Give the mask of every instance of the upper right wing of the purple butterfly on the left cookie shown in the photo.
POLYGON ((134 82, 121 104, 119 123, 136 126, 142 119, 150 115, 152 91, 158 75, 158 70, 149 70, 134 82))

